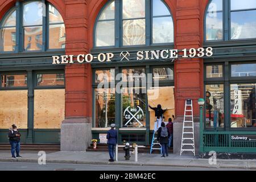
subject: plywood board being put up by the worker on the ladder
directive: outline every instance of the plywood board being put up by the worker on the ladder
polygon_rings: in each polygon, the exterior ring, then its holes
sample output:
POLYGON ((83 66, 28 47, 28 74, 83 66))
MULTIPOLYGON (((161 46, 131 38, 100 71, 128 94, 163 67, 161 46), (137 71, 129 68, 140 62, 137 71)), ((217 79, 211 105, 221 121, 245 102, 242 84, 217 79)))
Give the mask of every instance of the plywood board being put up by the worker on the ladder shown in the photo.
MULTIPOLYGON (((148 104, 151 107, 162 105, 162 109, 174 109, 174 86, 163 86, 158 89, 147 90, 148 104)), ((150 111, 152 111, 149 108, 150 111)))

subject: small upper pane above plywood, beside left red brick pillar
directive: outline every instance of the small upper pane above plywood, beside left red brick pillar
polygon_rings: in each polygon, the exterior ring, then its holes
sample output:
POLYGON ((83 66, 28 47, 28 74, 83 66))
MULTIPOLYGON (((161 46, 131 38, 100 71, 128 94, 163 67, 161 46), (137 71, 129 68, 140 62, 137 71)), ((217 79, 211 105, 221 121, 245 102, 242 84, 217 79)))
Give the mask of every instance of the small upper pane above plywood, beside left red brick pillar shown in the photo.
POLYGON ((38 74, 36 75, 38 86, 63 86, 65 80, 64 73, 38 74))

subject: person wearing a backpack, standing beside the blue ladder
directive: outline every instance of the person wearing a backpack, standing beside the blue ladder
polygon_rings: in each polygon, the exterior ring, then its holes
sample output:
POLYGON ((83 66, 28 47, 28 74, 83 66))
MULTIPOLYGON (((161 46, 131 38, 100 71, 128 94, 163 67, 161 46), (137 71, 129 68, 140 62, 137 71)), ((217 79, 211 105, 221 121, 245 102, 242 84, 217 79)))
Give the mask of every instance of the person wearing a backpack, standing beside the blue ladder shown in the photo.
POLYGON ((170 137, 170 133, 166 127, 164 122, 161 123, 161 127, 158 129, 158 141, 162 146, 162 158, 168 156, 168 140, 170 137))

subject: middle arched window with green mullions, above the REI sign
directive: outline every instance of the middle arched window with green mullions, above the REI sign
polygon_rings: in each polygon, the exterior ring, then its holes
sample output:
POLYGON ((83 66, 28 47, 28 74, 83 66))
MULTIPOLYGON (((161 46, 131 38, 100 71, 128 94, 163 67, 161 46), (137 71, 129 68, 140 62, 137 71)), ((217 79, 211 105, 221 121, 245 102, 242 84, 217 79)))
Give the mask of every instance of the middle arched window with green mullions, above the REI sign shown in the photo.
POLYGON ((115 0, 98 15, 94 38, 95 47, 173 43, 174 24, 161 0, 115 0))

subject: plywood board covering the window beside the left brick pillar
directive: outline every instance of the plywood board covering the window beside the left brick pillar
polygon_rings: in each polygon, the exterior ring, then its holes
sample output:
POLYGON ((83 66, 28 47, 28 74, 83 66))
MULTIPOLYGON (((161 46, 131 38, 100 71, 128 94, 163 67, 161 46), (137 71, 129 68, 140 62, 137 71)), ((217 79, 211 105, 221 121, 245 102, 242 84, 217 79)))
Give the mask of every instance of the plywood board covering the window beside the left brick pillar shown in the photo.
POLYGON ((35 90, 34 128, 60 129, 65 118, 65 89, 35 90))

